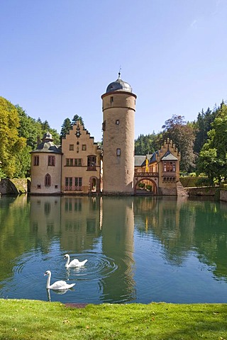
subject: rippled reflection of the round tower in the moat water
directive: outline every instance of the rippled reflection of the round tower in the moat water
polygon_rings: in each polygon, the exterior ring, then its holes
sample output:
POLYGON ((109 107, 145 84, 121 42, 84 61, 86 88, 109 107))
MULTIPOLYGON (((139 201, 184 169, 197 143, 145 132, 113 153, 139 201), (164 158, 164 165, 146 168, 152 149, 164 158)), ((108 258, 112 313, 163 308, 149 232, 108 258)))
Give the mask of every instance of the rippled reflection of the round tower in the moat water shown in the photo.
POLYGON ((104 197, 103 252, 118 266, 117 271, 104 279, 105 301, 130 301, 135 298, 133 232, 133 198, 104 197))

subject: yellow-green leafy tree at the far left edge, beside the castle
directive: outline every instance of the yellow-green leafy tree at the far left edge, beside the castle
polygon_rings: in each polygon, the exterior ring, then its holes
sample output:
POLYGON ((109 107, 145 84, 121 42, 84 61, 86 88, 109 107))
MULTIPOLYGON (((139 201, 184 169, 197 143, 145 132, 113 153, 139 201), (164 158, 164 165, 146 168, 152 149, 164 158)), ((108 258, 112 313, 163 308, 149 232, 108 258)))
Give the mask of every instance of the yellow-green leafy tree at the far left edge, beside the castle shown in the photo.
POLYGON ((19 125, 16 107, 0 97, 0 162, 1 170, 9 178, 16 173, 18 152, 26 147, 26 139, 18 135, 19 125))

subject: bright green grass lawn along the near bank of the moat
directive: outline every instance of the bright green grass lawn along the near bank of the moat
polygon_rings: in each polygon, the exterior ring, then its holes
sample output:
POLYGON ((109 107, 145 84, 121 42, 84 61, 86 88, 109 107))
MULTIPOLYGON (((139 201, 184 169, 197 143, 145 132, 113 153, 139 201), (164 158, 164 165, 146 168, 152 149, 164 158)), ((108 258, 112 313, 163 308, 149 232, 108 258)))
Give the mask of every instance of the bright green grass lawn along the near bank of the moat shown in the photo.
POLYGON ((227 304, 103 304, 0 299, 0 339, 227 340, 227 304))

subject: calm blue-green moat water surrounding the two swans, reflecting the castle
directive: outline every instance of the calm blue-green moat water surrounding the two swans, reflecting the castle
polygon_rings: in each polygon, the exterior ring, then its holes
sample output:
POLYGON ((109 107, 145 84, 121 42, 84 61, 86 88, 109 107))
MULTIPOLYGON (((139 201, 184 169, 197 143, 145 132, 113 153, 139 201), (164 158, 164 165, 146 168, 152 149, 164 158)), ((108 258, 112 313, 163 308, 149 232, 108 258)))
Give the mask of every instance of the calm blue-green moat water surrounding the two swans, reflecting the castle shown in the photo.
POLYGON ((0 298, 227 302, 227 203, 185 198, 0 198, 0 298), (65 254, 82 268, 65 268, 65 254), (51 283, 76 283, 65 294, 51 283))

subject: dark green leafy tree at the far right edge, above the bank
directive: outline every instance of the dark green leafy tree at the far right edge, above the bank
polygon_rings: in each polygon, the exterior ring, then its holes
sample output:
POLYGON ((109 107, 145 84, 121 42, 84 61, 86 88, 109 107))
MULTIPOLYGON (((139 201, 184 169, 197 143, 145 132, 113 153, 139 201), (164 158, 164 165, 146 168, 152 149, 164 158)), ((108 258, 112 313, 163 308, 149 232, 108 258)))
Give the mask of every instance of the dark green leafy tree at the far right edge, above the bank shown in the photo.
POLYGON ((204 173, 211 181, 220 184, 227 179, 227 106, 221 105, 212 129, 208 132, 208 140, 201 148, 197 164, 198 173, 204 173))

